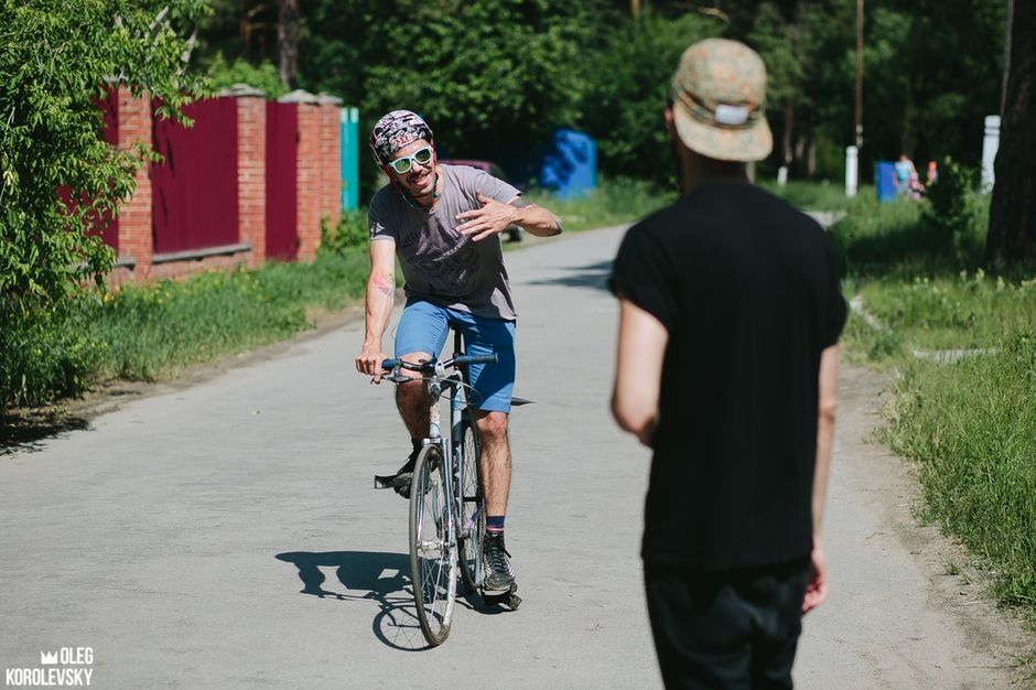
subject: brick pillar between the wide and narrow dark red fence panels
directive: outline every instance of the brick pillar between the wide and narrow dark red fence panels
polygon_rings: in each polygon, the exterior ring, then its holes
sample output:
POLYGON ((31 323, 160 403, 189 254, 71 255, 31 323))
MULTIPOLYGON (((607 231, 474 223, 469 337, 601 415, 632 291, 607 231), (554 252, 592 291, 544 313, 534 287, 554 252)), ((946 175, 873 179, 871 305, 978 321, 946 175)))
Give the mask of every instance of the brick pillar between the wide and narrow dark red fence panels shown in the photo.
POLYGON ((255 268, 267 256, 266 95, 244 84, 235 84, 220 95, 237 98, 238 237, 251 245, 248 265, 255 268))

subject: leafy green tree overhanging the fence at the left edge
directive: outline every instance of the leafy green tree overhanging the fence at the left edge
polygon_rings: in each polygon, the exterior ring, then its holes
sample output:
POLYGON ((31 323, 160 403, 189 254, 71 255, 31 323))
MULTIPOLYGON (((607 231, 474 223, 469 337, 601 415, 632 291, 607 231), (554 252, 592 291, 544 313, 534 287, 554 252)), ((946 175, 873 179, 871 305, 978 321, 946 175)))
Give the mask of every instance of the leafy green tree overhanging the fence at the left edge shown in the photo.
POLYGON ((88 367, 79 341, 51 333, 54 320, 110 269, 95 220, 117 213, 145 159, 105 143, 98 103, 122 84, 179 117, 201 93, 183 74, 181 35, 203 11, 199 0, 0 0, 0 351, 48 334, 36 348, 45 363, 4 357, 0 405, 24 399, 30 379, 75 388, 88 367))

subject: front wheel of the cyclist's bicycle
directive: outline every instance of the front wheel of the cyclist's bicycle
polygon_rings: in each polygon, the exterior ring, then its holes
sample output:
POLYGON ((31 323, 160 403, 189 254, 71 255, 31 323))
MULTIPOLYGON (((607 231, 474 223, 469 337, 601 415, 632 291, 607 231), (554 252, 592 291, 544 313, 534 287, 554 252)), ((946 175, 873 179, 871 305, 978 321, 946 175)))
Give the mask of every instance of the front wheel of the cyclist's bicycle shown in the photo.
POLYGON ((425 445, 410 482, 410 573, 421 632, 432 646, 450 635, 456 602, 457 550, 449 517, 442 451, 425 445))

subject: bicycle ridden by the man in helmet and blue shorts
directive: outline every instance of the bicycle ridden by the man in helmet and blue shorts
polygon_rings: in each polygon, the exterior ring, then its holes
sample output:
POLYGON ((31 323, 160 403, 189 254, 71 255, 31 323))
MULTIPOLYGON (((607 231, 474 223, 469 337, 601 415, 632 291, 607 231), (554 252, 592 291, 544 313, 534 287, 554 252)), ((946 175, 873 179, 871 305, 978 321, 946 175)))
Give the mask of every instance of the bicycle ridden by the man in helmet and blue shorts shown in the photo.
MULTIPOLYGON (((454 354, 446 360, 433 358, 422 364, 386 359, 381 367, 395 384, 414 380, 400 374, 421 374, 428 384, 429 431, 414 461, 410 481, 410 570, 413 600, 424 638, 441 645, 450 635, 456 603, 457 570, 467 592, 478 593, 486 603, 504 603, 517 608, 521 599, 517 585, 501 593, 483 586, 483 538, 486 504, 478 466, 479 441, 467 396, 467 365, 496 364, 496 354, 465 355, 461 334, 455 333, 454 354), (446 375, 446 369, 454 370, 446 375), (440 400, 450 401, 450 438, 442 433, 440 400)), ((522 401, 524 402, 524 401, 522 401)))

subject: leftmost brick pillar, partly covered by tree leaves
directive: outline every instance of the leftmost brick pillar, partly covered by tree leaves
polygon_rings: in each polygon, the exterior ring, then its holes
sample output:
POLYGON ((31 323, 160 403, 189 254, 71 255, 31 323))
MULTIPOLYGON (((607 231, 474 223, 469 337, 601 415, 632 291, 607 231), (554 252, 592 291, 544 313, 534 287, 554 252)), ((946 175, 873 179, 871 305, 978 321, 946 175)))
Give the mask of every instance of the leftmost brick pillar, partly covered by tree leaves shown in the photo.
MULTIPOLYGON (((151 145, 151 98, 144 95, 134 98, 128 88, 118 90, 118 147, 128 150, 138 143, 151 145)), ((133 276, 144 279, 151 270, 154 239, 151 220, 151 177, 144 163, 137 171, 137 191, 125 202, 119 212, 119 258, 133 260, 133 276)))

